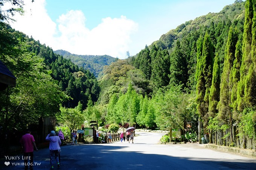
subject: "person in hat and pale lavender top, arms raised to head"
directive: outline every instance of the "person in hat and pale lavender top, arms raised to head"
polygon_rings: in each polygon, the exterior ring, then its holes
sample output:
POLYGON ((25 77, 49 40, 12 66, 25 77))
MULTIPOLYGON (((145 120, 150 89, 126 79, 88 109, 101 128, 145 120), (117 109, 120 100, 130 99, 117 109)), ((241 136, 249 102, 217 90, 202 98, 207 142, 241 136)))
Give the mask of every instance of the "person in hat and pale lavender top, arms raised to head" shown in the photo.
POLYGON ((50 134, 47 135, 45 140, 50 141, 50 163, 51 163, 51 168, 53 169, 53 164, 54 160, 56 160, 58 167, 60 167, 59 163, 59 152, 61 150, 61 139, 59 136, 56 136, 55 131, 51 131, 50 134))

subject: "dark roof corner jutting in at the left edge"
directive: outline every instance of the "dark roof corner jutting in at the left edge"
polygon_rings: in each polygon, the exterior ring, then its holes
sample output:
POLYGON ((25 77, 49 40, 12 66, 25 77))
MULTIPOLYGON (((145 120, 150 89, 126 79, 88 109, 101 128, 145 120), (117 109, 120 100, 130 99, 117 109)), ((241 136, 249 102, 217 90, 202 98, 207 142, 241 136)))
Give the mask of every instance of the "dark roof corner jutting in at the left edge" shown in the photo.
POLYGON ((16 77, 12 72, 0 61, 0 90, 4 90, 7 85, 16 86, 16 77))

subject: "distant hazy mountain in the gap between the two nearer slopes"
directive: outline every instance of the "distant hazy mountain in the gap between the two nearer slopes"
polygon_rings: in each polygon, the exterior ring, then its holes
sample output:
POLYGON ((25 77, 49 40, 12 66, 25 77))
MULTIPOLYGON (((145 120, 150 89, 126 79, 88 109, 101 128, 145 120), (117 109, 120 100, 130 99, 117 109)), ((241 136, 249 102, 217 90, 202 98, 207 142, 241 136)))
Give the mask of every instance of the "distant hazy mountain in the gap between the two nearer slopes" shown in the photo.
POLYGON ((56 50, 55 54, 59 54, 66 59, 70 59, 73 63, 78 65, 79 67, 84 68, 85 70, 89 70, 92 72, 97 78, 99 75, 102 75, 103 67, 106 65, 110 65, 115 62, 117 59, 111 56, 93 56, 93 55, 76 55, 71 54, 68 51, 64 50, 56 50))

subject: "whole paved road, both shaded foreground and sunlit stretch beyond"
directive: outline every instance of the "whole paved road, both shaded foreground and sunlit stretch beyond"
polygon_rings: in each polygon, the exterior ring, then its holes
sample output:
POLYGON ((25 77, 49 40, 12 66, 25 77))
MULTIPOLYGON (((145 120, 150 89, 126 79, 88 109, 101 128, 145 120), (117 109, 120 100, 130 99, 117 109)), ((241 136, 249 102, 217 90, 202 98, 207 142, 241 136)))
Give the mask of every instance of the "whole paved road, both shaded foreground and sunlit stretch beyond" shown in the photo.
MULTIPOLYGON (((253 170, 256 159, 206 149, 201 144, 159 144, 163 134, 136 132, 134 143, 78 144, 61 147, 59 170, 253 170)), ((17 155, 21 156, 22 155, 17 155)), ((17 158, 17 157, 16 157, 17 158)), ((21 170, 19 160, 1 160, 4 170, 21 170), (5 162, 10 162, 7 166, 5 162), (16 165, 15 165, 16 164, 16 165)), ((50 169, 49 150, 34 152, 34 170, 50 169), (40 164, 40 165, 39 165, 40 164)))

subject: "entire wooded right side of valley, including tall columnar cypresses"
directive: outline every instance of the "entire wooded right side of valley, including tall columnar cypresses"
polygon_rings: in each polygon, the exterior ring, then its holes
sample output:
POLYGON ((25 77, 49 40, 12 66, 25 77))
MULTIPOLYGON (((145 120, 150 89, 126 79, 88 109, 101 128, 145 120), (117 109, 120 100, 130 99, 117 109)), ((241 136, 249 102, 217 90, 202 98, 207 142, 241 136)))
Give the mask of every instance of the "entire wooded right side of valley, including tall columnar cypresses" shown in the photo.
POLYGON ((191 132, 200 120, 211 143, 255 147, 255 11, 254 0, 236 0, 106 67, 102 120, 191 132))

